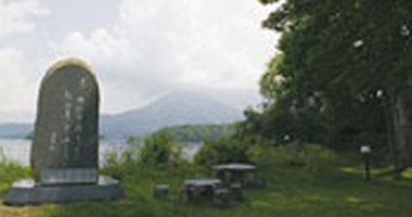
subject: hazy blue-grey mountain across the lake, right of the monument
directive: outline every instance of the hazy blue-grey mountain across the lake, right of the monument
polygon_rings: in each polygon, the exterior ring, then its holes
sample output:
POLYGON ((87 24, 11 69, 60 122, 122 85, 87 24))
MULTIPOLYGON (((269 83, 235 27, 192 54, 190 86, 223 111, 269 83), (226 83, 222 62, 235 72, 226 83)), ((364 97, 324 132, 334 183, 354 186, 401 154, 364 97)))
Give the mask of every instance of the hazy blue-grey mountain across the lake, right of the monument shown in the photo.
POLYGON ((101 133, 124 139, 131 135, 144 136, 164 127, 228 124, 242 118, 241 110, 217 98, 195 91, 175 90, 142 108, 103 116, 101 133))

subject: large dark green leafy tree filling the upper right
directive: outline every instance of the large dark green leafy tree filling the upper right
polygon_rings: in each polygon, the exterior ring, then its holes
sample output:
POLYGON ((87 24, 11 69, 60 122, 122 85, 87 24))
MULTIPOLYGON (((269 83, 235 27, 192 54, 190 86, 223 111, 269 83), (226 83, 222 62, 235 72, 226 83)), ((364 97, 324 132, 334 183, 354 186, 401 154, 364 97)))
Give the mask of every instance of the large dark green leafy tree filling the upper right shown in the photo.
POLYGON ((261 79, 263 114, 312 110, 325 142, 379 135, 399 165, 412 165, 411 14, 408 0, 283 1, 262 24, 282 33, 261 79))

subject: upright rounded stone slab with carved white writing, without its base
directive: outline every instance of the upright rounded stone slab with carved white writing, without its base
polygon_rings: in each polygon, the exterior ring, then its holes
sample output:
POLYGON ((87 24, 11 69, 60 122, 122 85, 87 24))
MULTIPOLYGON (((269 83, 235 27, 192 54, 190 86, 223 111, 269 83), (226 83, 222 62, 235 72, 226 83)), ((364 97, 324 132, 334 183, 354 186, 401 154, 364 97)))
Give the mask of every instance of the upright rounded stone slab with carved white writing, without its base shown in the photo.
POLYGON ((98 169, 98 127, 99 87, 94 75, 78 60, 56 63, 39 92, 30 153, 35 180, 41 180, 42 169, 98 169))

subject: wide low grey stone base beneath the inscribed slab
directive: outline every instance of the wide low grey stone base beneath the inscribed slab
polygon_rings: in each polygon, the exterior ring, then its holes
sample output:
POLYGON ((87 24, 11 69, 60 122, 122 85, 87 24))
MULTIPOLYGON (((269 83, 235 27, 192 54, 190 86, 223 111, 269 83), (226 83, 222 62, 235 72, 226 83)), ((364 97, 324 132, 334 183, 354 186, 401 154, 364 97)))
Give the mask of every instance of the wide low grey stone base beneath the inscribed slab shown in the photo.
POLYGON ((123 197, 115 179, 99 177, 96 184, 36 186, 34 180, 16 181, 5 196, 4 204, 12 206, 76 201, 102 201, 123 197))

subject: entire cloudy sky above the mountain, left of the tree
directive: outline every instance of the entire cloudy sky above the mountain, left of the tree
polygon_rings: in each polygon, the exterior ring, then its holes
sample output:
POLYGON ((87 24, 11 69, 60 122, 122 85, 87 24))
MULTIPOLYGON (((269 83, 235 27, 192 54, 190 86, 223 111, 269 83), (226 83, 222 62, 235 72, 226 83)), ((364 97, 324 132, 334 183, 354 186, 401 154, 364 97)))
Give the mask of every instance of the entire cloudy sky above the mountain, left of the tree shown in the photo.
POLYGON ((256 103, 279 38, 261 28, 273 9, 257 0, 0 0, 0 123, 33 122, 43 75, 65 58, 91 65, 102 113, 179 88, 256 103))

